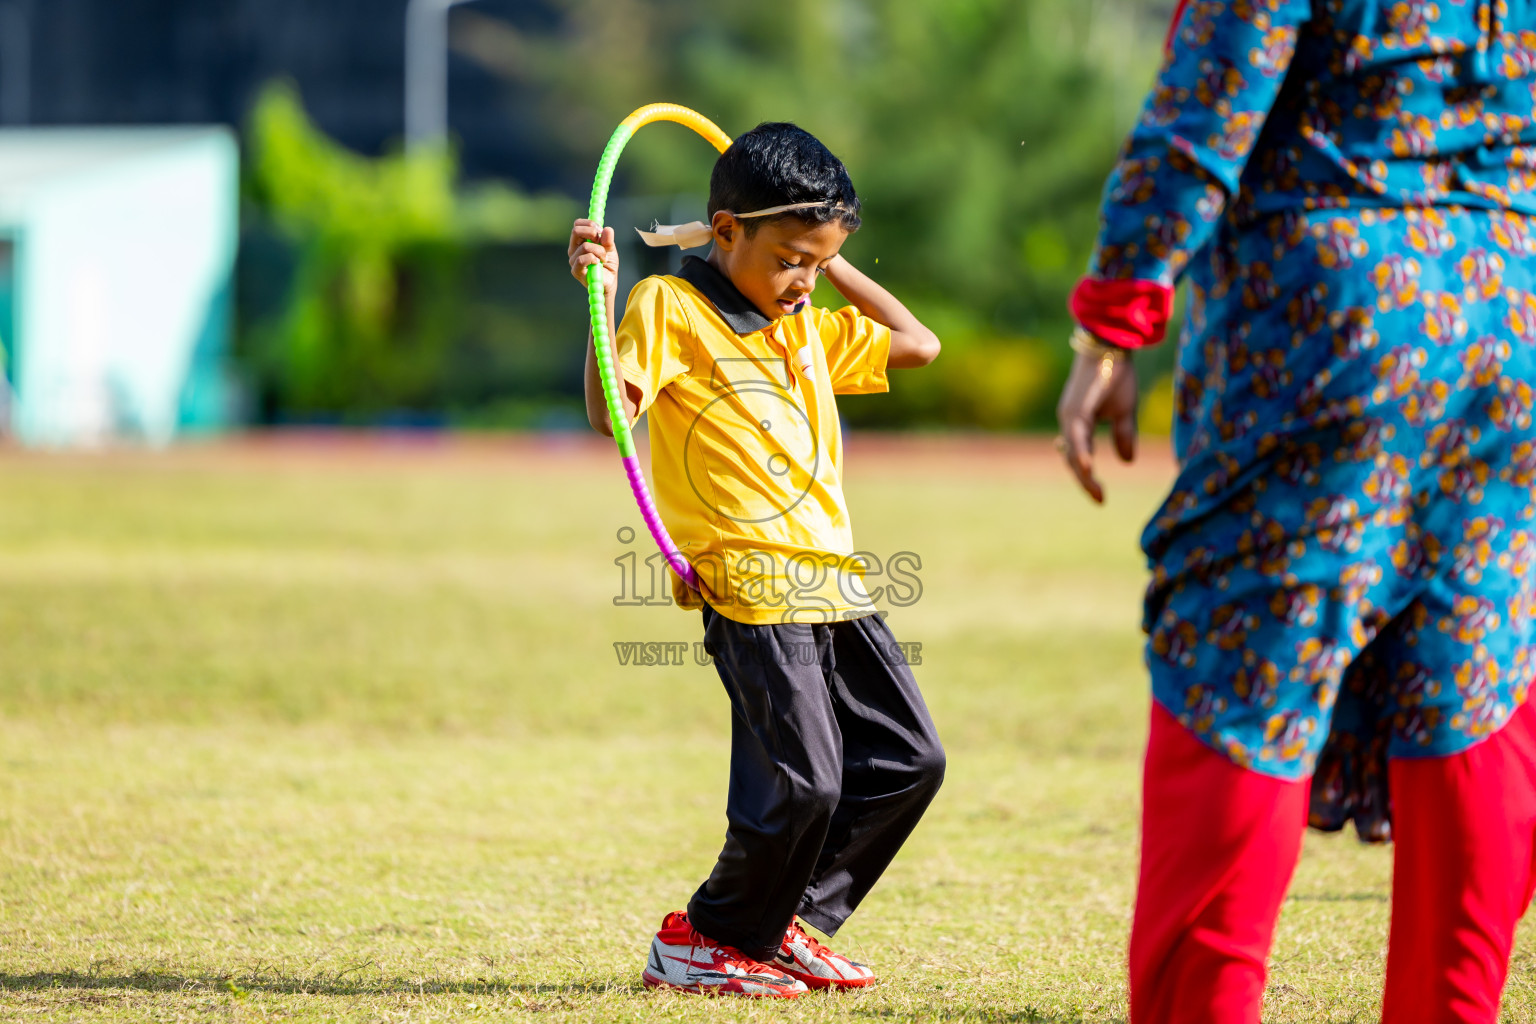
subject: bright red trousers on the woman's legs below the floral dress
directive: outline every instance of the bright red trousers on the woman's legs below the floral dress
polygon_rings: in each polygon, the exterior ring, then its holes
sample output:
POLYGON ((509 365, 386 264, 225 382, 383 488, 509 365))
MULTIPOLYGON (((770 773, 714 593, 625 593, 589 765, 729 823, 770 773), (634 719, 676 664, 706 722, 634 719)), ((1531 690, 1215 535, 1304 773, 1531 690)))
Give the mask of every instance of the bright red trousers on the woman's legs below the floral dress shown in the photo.
MULTIPOLYGON (((1385 1024, 1496 1024, 1536 886, 1536 708, 1484 743, 1393 760, 1385 1024)), ((1130 1024, 1258 1024, 1307 780, 1238 768, 1152 708, 1130 1024)))

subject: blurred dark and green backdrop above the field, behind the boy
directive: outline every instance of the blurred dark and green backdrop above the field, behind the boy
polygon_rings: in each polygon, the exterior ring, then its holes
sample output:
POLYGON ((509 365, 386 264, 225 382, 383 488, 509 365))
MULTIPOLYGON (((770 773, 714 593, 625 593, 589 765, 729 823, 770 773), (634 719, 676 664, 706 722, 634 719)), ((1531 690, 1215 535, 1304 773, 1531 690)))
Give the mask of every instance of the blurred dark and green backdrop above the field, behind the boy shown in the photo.
MULTIPOLYGON (((1172 6, 470 0, 444 14, 447 144, 407 149, 406 0, 0 0, 0 121, 238 132, 240 416, 558 428, 585 422, 564 238, 613 127, 654 100, 728 134, 793 120, 865 201, 846 255, 946 342, 846 419, 1018 430, 1049 419, 1064 298, 1172 6)), ((711 160, 641 132, 621 238, 702 216, 711 160)), ((627 289, 679 256, 624 258, 627 289)))

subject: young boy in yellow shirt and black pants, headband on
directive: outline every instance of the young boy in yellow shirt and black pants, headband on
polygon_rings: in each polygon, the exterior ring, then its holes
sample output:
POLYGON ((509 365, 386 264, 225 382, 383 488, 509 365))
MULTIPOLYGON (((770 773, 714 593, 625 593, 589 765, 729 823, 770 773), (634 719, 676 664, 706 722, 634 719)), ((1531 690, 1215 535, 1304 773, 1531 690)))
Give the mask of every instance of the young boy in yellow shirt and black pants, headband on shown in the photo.
MULTIPOLYGON (((885 391, 886 367, 932 362, 938 339, 839 255, 859 197, 805 130, 737 138, 708 210, 708 226, 659 229, 713 241, 708 259, 641 281, 608 330, 625 415, 650 410, 657 508, 700 577, 699 591, 674 577, 673 593, 702 609, 733 712, 725 849, 688 910, 662 921, 642 978, 748 996, 860 987, 874 972, 796 915, 837 933, 938 791, 945 754, 863 588, 833 396, 885 391), (822 275, 851 306, 809 304, 822 275)), ((611 318, 613 230, 579 220, 578 281, 591 264, 611 318)), ((613 433, 590 338, 587 415, 613 433)))

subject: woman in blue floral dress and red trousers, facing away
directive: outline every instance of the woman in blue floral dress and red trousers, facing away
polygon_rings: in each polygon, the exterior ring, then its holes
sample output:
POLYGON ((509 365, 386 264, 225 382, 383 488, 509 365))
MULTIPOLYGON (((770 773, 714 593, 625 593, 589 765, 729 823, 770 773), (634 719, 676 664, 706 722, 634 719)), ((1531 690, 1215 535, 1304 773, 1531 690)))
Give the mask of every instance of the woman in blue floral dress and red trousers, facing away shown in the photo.
POLYGON ((1498 1018, 1536 877, 1533 88, 1528 0, 1175 15, 1058 407, 1101 500, 1094 422, 1130 457, 1127 350, 1189 276, 1134 1024, 1258 1021, 1309 797, 1396 843, 1385 1019, 1498 1018))

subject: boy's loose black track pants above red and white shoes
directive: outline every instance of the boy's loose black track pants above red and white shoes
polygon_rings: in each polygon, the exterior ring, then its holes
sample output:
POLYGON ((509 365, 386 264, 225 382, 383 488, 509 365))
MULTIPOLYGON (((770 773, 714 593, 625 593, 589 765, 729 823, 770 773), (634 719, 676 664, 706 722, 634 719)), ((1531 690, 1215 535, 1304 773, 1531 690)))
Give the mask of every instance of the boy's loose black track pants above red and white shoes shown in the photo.
POLYGON ((879 616, 734 622, 703 608, 731 699, 725 849, 688 904, 708 938, 765 958, 799 913, 837 932, 923 817, 945 751, 879 616))

